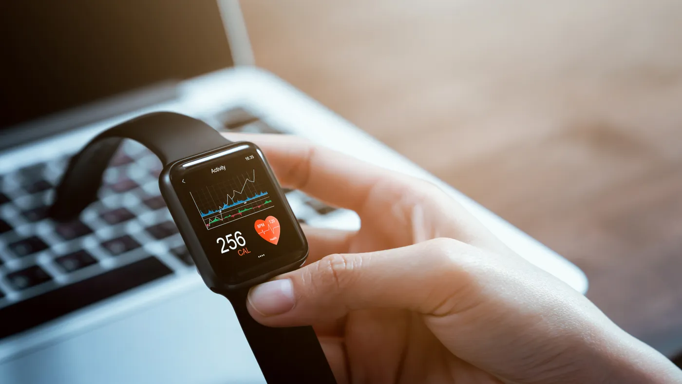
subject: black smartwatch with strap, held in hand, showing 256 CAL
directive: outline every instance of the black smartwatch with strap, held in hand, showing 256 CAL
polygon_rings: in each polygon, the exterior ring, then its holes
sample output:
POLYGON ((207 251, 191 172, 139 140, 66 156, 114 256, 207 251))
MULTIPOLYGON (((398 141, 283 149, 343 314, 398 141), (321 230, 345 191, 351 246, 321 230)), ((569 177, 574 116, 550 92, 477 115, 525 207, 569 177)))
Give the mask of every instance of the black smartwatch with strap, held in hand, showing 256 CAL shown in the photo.
POLYGON ((205 284, 231 301, 265 381, 336 383, 312 327, 266 327, 246 309, 251 286, 297 269, 308 256, 301 226, 255 144, 232 143, 178 113, 125 121, 72 158, 50 216, 72 220, 95 201, 125 138, 145 145, 164 164, 159 186, 170 214, 205 284))

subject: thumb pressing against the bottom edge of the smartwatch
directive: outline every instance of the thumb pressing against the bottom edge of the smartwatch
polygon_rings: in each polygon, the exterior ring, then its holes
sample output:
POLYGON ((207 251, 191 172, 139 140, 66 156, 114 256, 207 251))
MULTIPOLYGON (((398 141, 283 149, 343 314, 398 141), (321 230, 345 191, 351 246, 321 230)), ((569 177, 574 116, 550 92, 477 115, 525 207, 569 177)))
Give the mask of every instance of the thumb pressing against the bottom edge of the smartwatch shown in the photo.
POLYGON ((254 286, 248 309, 269 326, 330 321, 366 308, 445 314, 471 281, 464 263, 474 259, 475 249, 454 239, 433 239, 379 252, 332 254, 254 286))

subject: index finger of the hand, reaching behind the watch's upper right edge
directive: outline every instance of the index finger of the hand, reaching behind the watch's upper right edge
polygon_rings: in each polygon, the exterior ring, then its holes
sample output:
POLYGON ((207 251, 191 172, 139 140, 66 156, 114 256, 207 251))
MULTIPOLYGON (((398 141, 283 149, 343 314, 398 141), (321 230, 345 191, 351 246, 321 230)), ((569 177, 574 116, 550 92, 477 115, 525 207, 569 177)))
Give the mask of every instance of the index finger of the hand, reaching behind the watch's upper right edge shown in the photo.
POLYGON ((263 149, 280 183, 336 207, 360 211, 372 188, 394 175, 305 138, 282 134, 225 134, 263 149))

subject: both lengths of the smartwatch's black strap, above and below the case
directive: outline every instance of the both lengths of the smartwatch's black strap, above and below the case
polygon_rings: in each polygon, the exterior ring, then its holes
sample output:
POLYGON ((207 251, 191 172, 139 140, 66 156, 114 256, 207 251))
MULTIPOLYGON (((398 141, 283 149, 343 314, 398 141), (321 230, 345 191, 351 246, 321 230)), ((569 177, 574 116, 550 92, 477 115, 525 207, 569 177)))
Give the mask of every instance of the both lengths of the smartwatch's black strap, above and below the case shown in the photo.
MULTIPOLYGON (((164 165, 231 143, 201 120, 170 112, 149 113, 110 128, 74 156, 50 207, 50 216, 76 218, 97 197, 102 175, 121 141, 145 145, 164 165)), ((248 290, 229 293, 237 319, 267 383, 336 383, 312 327, 270 328, 246 310, 248 290)))

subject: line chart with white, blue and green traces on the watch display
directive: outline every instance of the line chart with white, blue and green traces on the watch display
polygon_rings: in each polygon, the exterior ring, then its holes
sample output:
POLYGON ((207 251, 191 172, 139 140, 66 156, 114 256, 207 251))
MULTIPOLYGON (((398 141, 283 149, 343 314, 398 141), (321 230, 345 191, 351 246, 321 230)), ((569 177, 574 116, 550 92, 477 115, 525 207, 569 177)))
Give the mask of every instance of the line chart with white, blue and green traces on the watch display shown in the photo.
POLYGON ((208 230, 273 207, 272 198, 256 181, 256 170, 220 178, 217 183, 190 192, 208 230))

